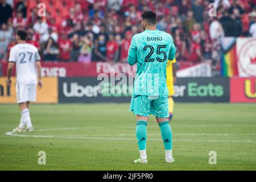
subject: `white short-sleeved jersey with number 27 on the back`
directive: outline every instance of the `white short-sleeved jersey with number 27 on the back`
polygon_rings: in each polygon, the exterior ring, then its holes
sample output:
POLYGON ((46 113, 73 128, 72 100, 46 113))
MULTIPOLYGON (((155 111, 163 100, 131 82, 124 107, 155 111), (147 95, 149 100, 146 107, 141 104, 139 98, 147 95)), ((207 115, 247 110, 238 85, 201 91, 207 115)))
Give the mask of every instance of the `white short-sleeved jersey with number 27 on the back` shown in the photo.
POLYGON ((40 60, 38 49, 31 44, 16 44, 10 51, 9 62, 16 63, 18 84, 37 84, 36 61, 40 60))

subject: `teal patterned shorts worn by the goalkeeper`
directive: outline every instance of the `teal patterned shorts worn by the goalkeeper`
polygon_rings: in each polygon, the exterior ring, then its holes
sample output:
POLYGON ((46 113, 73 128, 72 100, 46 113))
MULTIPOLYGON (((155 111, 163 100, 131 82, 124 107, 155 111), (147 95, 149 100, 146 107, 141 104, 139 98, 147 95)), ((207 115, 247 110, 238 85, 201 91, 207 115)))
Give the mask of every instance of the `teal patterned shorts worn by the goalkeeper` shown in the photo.
POLYGON ((168 118, 167 96, 133 96, 129 111, 147 117, 152 114, 158 118, 168 118))

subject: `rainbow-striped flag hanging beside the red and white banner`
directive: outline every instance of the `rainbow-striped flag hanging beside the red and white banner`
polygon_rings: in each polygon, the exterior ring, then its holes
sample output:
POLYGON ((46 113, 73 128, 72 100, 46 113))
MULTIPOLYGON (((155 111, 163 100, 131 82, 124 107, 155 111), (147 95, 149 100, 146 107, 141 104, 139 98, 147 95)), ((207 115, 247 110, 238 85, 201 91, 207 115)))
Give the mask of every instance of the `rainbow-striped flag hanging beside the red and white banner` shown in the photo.
POLYGON ((221 76, 238 76, 236 38, 221 40, 221 76))

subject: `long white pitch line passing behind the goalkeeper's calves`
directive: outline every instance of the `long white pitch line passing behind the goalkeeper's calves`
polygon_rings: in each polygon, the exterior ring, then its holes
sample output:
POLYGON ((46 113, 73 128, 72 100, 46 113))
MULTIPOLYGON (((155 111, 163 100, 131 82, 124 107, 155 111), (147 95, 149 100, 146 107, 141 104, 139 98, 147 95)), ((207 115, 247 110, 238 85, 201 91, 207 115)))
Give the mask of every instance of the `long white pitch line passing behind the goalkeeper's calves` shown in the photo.
MULTIPOLYGON (((72 137, 55 135, 24 135, 14 134, 13 131, 5 133, 12 137, 32 137, 32 138, 55 138, 55 139, 100 139, 100 140, 137 140, 136 138, 106 138, 106 137, 72 137)), ((162 141, 162 139, 148 139, 152 141, 162 141)), ((173 139, 174 141, 185 142, 256 142, 256 140, 192 140, 192 139, 173 139)))

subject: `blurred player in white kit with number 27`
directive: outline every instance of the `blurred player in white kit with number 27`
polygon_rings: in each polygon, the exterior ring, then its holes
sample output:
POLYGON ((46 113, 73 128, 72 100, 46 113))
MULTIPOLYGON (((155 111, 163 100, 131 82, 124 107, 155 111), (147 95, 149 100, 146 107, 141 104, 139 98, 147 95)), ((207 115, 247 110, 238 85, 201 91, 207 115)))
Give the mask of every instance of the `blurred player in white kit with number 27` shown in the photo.
POLYGON ((36 84, 42 88, 41 65, 38 49, 26 43, 27 33, 16 32, 16 44, 10 51, 7 68, 7 85, 11 86, 11 72, 16 64, 16 97, 20 108, 20 123, 14 132, 32 132, 34 128, 30 119, 30 102, 36 101, 36 84), (37 80, 38 77, 38 80, 37 80))

